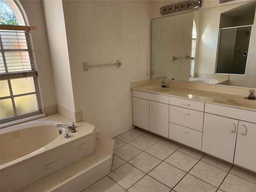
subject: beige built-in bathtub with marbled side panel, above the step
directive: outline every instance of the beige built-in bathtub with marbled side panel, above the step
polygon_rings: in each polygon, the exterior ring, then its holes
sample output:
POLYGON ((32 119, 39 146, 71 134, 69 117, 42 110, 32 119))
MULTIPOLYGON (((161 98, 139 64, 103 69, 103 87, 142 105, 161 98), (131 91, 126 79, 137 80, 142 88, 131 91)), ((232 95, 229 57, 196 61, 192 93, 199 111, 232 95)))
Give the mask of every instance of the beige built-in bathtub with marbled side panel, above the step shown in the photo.
POLYGON ((81 122, 70 138, 53 121, 19 124, 0 130, 1 192, 18 190, 94 152, 94 126, 81 122))

